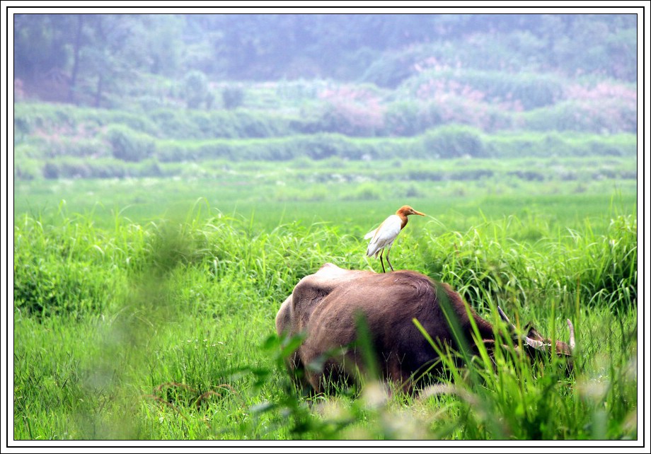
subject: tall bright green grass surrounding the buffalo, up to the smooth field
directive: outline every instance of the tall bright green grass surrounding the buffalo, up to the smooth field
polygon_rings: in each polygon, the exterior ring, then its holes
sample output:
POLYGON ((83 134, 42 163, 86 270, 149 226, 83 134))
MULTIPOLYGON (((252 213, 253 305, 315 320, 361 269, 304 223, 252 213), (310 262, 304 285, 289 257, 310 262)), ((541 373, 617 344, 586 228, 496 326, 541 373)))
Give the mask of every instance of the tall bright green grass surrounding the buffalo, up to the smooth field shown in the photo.
POLYGON ((330 397, 294 388, 282 360, 298 341, 278 338, 273 320, 324 262, 377 266, 359 227, 261 229, 255 215, 204 199, 175 219, 115 214, 105 228, 64 206, 57 216, 15 219, 14 438, 637 438, 629 214, 605 235, 517 218, 439 235, 410 226, 393 252, 394 264, 449 282, 489 320, 499 304, 518 325, 567 340, 571 318, 574 376, 505 354, 497 371, 450 362, 443 385, 420 396, 387 395, 369 378, 330 397), (517 240, 531 231, 537 240, 517 240))

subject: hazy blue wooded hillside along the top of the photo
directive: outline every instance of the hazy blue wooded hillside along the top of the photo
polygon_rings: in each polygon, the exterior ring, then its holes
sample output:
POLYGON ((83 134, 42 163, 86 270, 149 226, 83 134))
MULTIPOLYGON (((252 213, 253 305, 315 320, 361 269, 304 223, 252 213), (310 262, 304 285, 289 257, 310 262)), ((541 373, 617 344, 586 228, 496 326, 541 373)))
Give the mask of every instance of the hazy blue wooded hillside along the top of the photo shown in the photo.
POLYGON ((96 107, 151 92, 151 77, 162 91, 188 74, 385 88, 439 71, 635 83, 636 46, 635 14, 14 17, 19 95, 96 107))

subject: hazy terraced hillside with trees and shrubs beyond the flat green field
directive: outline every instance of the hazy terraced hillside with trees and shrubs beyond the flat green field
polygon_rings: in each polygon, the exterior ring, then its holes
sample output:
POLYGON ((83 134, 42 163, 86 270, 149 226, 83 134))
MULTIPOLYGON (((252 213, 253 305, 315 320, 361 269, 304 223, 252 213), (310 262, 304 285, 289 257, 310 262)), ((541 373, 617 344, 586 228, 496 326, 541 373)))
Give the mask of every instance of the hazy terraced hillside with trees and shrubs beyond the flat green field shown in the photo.
POLYGON ((13 25, 18 178, 183 175, 173 163, 216 159, 636 153, 635 14, 16 14, 13 25))

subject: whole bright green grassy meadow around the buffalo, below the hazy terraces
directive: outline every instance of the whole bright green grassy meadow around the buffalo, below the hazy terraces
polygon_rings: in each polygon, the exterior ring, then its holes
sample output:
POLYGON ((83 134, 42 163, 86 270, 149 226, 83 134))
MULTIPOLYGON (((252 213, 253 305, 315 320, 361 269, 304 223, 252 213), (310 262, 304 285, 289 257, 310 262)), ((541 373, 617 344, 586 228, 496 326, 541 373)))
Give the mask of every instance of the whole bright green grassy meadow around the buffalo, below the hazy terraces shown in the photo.
POLYGON ((635 165, 554 159, 536 161, 541 178, 513 173, 535 168, 517 159, 335 159, 16 180, 13 437, 635 443, 637 181, 608 176, 635 165), (570 318, 574 375, 479 361, 420 396, 372 377, 335 396, 294 388, 280 304, 326 262, 380 271, 362 237, 402 204, 428 216, 394 267, 451 284, 490 320, 500 305, 566 341, 570 318))

